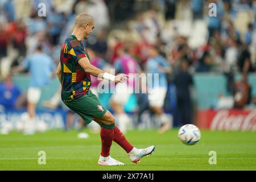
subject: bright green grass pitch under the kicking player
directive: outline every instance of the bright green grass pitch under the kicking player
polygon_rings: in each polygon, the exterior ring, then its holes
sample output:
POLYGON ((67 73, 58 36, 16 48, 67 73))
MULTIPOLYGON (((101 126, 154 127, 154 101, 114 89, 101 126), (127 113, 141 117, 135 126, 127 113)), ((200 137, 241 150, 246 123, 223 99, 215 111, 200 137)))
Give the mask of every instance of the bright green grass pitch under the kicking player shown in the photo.
POLYGON ((126 138, 137 148, 155 145, 155 152, 134 164, 126 152, 113 143, 111 156, 126 166, 98 166, 100 134, 78 139, 78 132, 51 130, 24 136, 12 132, 0 135, 0 170, 256 170, 256 133, 201 131, 195 146, 185 146, 177 129, 165 134, 156 130, 133 130, 126 138), (39 165, 39 151, 46 152, 46 164, 39 165), (216 151, 217 164, 210 165, 209 151, 216 151))

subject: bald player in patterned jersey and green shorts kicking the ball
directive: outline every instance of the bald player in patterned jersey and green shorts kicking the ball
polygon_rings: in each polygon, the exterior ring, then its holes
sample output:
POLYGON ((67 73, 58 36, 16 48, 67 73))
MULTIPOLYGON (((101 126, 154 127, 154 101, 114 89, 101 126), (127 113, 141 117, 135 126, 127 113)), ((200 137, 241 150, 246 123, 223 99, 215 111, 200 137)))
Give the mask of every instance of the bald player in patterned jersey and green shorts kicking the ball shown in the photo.
POLYGON ((65 40, 60 53, 60 63, 57 67, 57 77, 62 90, 61 99, 70 109, 79 114, 86 123, 96 121, 101 126, 101 155, 98 164, 102 166, 123 166, 124 164, 110 156, 112 141, 121 146, 134 163, 143 156, 151 154, 154 146, 144 149, 133 147, 125 136, 115 126, 113 115, 101 105, 98 98, 90 91, 90 75, 101 76, 114 82, 123 82, 127 75, 111 75, 90 64, 89 55, 82 44, 94 28, 91 15, 82 13, 76 16, 73 33, 65 40))

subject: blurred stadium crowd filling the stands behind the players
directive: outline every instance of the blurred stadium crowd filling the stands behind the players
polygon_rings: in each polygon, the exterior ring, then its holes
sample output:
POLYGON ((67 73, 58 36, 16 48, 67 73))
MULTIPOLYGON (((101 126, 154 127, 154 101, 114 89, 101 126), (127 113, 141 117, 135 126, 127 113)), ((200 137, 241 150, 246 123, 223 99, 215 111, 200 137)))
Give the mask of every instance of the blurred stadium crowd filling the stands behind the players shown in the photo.
MULTIPOLYGON (((191 105, 191 93, 183 90, 193 85, 193 73, 223 73, 230 78, 234 73, 256 71, 253 0, 0 0, 0 92, 5 93, 3 85, 11 82, 11 69, 22 64, 39 44, 57 65, 76 15, 84 12, 95 21, 95 30, 85 42, 92 59, 112 67, 123 47, 146 72, 148 48, 154 45, 172 67, 166 79, 176 86, 181 110, 191 105), (42 2, 46 16, 40 17, 38 5, 42 2), (209 16, 209 3, 216 3, 217 16, 209 16)), ((5 106, 15 107, 20 90, 14 89, 11 97, 2 95, 0 105, 8 97, 5 106)))

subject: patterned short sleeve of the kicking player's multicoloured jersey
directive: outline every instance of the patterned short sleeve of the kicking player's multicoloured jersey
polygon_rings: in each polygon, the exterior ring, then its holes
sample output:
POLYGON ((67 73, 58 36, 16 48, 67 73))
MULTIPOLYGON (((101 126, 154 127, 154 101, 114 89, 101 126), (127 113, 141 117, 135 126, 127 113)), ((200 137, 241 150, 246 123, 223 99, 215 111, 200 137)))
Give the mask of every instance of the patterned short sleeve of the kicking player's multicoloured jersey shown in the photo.
POLYGON ((71 40, 69 47, 69 54, 72 55, 73 59, 77 62, 83 57, 87 57, 84 46, 79 40, 71 40))

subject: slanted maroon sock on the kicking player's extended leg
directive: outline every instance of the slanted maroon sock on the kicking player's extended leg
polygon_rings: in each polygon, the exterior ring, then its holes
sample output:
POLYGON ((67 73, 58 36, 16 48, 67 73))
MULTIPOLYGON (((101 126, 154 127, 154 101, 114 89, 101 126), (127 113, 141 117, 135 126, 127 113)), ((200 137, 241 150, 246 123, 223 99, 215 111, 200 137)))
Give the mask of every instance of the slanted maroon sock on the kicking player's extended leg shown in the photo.
POLYGON ((114 127, 114 142, 119 144, 127 153, 129 153, 133 146, 126 140, 125 135, 118 129, 117 126, 114 127))

